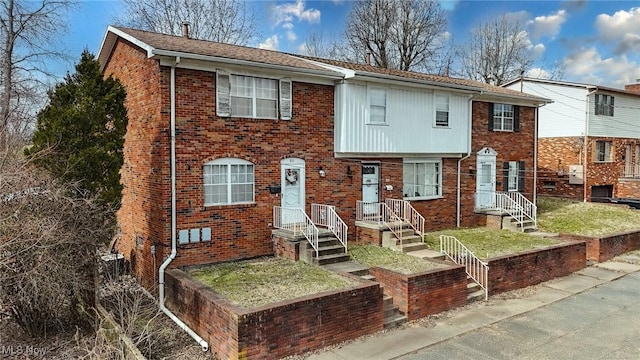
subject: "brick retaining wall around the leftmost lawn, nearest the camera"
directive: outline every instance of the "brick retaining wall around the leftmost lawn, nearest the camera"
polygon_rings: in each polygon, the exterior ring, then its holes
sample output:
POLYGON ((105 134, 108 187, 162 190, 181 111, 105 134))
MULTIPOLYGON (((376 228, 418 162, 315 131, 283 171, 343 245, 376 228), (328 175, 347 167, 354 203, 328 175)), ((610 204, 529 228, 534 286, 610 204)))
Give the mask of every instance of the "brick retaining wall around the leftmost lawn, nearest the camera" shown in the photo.
POLYGON ((382 288, 373 282, 247 309, 181 270, 169 270, 166 280, 167 306, 209 342, 219 359, 279 359, 383 327, 382 288))

